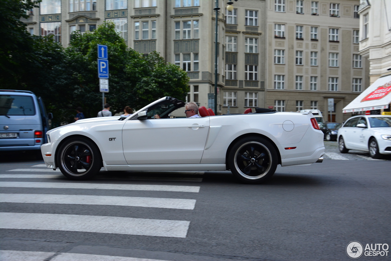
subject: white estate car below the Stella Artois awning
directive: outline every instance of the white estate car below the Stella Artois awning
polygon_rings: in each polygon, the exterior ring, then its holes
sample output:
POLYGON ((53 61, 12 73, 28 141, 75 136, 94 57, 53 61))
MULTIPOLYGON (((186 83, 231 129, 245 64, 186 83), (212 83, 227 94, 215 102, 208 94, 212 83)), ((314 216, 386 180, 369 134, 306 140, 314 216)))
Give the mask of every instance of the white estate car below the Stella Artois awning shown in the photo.
POLYGON ((361 150, 369 152, 374 159, 391 154, 391 116, 353 116, 338 129, 337 141, 341 153, 361 150))

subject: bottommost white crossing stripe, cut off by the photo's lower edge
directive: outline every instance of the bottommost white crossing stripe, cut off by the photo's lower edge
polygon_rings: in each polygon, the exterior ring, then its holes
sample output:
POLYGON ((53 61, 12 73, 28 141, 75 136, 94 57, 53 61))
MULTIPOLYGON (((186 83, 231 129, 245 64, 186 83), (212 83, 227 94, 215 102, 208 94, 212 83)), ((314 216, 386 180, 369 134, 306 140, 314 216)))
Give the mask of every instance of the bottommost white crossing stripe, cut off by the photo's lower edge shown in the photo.
POLYGON ((147 259, 137 257, 124 256, 103 256, 91 254, 77 254, 77 253, 55 253, 55 252, 38 252, 38 251, 15 251, 15 250, 0 250, 2 260, 7 261, 167 261, 161 259, 147 259), (56 256, 55 256, 56 255, 56 256))

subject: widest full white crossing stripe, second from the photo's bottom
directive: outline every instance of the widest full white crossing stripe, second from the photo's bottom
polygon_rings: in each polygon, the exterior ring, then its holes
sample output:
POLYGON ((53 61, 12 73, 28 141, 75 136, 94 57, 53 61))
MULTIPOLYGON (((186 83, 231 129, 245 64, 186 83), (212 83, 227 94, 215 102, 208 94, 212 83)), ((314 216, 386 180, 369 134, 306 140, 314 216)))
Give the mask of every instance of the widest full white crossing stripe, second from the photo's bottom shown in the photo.
POLYGON ((190 221, 65 214, 0 213, 0 228, 186 237, 190 221))

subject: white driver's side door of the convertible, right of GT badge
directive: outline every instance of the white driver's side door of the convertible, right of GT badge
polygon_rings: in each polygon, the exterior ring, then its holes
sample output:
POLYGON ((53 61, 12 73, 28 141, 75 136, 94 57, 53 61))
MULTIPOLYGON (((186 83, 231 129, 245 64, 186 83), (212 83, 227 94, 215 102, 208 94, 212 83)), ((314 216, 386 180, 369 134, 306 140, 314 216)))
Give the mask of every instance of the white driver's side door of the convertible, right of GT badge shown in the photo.
POLYGON ((198 164, 209 117, 128 120, 122 144, 128 164, 198 164))

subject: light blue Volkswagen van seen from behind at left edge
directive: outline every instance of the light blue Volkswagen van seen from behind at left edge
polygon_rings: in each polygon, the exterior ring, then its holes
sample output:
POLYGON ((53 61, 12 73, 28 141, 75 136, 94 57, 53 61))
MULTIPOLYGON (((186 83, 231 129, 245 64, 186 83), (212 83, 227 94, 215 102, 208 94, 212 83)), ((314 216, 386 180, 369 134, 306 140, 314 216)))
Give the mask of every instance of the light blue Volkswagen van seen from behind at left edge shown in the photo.
POLYGON ((0 90, 0 151, 40 151, 52 118, 33 92, 0 90))

